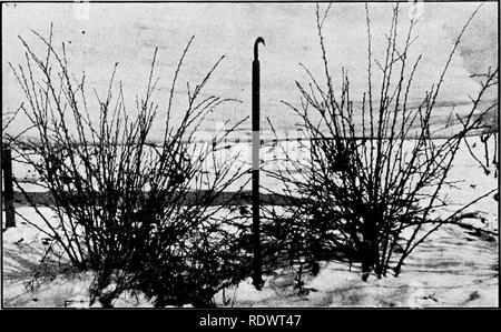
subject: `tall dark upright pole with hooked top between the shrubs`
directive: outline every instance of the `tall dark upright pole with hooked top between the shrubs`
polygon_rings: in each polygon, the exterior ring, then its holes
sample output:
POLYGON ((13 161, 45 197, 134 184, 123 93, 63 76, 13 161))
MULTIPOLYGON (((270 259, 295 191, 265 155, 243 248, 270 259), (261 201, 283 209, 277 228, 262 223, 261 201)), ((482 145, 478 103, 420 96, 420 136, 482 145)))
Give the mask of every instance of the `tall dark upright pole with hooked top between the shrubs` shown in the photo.
POLYGON ((265 44, 262 37, 254 43, 253 61, 253 242, 254 242, 254 262, 253 262, 253 284, 261 290, 264 284, 262 278, 263 256, 261 253, 261 230, 259 230, 259 59, 258 44, 265 44))

